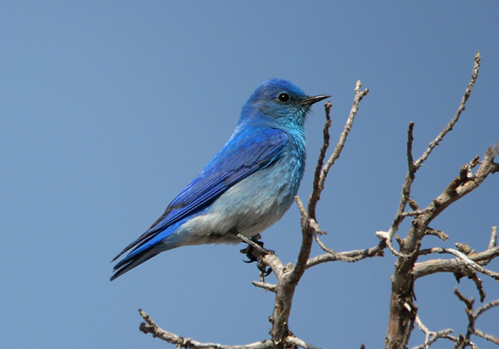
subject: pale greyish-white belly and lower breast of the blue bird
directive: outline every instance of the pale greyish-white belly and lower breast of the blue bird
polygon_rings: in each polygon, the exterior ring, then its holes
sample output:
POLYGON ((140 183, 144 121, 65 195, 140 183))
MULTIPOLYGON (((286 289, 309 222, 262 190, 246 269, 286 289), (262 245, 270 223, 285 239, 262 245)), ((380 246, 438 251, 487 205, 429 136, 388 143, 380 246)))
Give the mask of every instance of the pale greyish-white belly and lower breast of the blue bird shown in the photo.
POLYGON ((301 179, 299 161, 287 160, 280 160, 287 166, 275 164, 232 186, 175 235, 185 238, 182 244, 238 243, 232 232, 250 238, 272 226, 288 211, 301 179))

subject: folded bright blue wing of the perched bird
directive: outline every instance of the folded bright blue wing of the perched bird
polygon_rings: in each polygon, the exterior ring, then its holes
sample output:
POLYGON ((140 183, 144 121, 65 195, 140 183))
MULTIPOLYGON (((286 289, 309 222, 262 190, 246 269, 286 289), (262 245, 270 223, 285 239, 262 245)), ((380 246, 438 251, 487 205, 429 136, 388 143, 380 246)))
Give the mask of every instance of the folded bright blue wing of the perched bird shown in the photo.
POLYGON ((286 143, 288 143, 288 134, 281 129, 251 129, 235 134, 200 175, 175 197, 150 229, 113 259, 116 260, 123 253, 134 248, 114 269, 167 238, 175 231, 168 227, 206 208, 238 181, 277 161, 286 143), (164 231, 166 234, 161 234, 164 231), (159 234, 161 236, 158 236, 159 234))

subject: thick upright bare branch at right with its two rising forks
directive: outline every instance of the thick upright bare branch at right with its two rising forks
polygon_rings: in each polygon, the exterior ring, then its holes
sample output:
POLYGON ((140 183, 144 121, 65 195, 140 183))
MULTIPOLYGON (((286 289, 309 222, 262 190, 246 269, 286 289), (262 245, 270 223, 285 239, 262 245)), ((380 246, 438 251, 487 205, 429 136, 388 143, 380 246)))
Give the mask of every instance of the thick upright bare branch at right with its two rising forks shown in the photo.
MULTIPOLYGON (((381 232, 383 233, 381 234, 383 235, 382 237, 386 238, 385 242, 389 247, 391 247, 392 238, 399 230, 401 222, 405 217, 407 217, 407 215, 404 215, 403 212, 405 211, 405 206, 410 200, 410 190, 417 170, 421 168, 421 165, 423 165, 423 162, 428 159, 428 156, 432 150, 444 139, 446 134, 453 129, 455 123, 457 123, 457 120, 459 120, 459 116, 462 114, 462 111, 466 106, 466 101, 469 99, 471 94, 471 89, 473 89, 473 86, 478 78, 479 69, 480 53, 477 52, 475 55, 473 72, 471 74, 471 81, 464 91, 464 96, 455 116, 453 116, 446 127, 442 129, 435 140, 428 145, 428 149, 423 152, 417 161, 414 162, 413 166, 411 165, 413 126, 412 124, 409 125, 408 172, 405 174, 399 208, 395 214, 389 231, 381 232)), ((421 212, 418 212, 419 215, 415 215, 408 235, 403 240, 399 241, 400 250, 399 252, 394 253, 397 256, 397 261, 395 264, 394 274, 392 275, 392 294, 390 297, 389 323, 387 335, 385 337, 385 348, 405 348, 410 339, 412 329, 414 328, 415 316, 417 315, 417 308, 412 305, 412 299, 414 298, 414 263, 419 255, 418 252, 421 248, 421 240, 425 236, 429 224, 435 219, 435 217, 437 217, 437 215, 439 215, 439 213, 450 206, 450 204, 480 186, 489 174, 499 170, 499 164, 493 163, 493 154, 496 154, 496 152, 493 151, 492 148, 489 148, 489 150, 485 153, 482 165, 480 165, 480 168, 478 168, 474 176, 470 174, 470 172, 471 168, 473 168, 473 165, 476 165, 476 163, 465 165, 466 168, 463 167, 462 170, 459 171, 457 179, 448 185, 446 190, 444 190, 444 193, 434 199, 428 207, 424 208, 421 212), (406 304, 412 305, 411 312, 405 307, 406 304)), ((411 206, 417 207, 417 205, 414 204, 411 204, 411 206)), ((413 211, 416 211, 414 208, 412 209, 413 211)), ((381 236, 378 233, 378 237, 381 236)), ((390 249, 390 251, 393 253, 393 248, 390 249)), ((466 256, 464 257, 466 258, 466 256)))

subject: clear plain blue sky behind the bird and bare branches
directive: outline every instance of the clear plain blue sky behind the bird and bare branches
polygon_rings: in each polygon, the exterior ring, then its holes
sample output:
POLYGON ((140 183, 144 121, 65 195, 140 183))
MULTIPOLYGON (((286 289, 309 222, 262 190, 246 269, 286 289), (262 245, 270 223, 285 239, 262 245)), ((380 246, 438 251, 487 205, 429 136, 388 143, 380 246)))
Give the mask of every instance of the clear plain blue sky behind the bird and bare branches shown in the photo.
MULTIPOLYGON (((225 144, 263 80, 330 94, 334 141, 356 80, 371 90, 319 202, 324 242, 338 251, 371 247, 374 232, 389 228, 408 123, 419 156, 455 113, 477 49, 478 84, 462 120, 418 172, 414 199, 426 206, 461 165, 499 141, 497 2, 4 1, 1 8, 3 348, 169 348, 139 332, 139 307, 199 341, 267 338, 274 297, 251 285, 258 274, 241 262, 242 244, 169 251, 108 281, 110 260, 225 144)), ((306 125, 304 200, 323 123, 317 105, 306 125)), ((498 197, 496 174, 432 224, 450 240, 426 238, 426 247, 487 247, 498 197)), ((299 238, 295 206, 263 233, 283 262, 295 261, 299 238)), ((325 348, 382 347, 394 261, 387 253, 307 271, 290 329, 325 348)), ((487 299, 498 298, 498 283, 482 279, 487 299)), ((419 314, 432 330, 466 329, 455 285, 452 275, 418 280, 419 314)), ((478 296, 469 280, 459 287, 478 296)), ((497 316, 478 328, 498 334, 497 316)), ((415 330, 411 346, 421 341, 415 330)))

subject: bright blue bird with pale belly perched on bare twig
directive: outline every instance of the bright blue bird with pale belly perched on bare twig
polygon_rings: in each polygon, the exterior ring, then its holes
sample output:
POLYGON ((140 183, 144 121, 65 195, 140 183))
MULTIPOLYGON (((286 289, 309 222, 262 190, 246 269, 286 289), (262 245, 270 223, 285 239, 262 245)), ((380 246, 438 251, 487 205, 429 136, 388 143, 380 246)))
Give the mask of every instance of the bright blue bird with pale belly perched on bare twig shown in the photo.
POLYGON ((305 168, 304 121, 310 106, 331 96, 306 96, 288 80, 254 90, 225 146, 166 211, 114 260, 114 280, 162 251, 185 245, 236 244, 281 219, 305 168))

